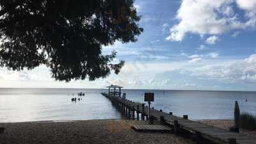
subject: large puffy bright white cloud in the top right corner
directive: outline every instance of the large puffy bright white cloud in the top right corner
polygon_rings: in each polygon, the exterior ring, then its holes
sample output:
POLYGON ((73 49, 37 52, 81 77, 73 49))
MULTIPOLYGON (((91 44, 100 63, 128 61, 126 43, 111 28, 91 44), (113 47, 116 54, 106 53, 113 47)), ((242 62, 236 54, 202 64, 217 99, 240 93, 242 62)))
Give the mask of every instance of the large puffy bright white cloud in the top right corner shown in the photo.
POLYGON ((172 26, 166 40, 182 41, 187 33, 221 35, 234 29, 255 28, 255 11, 255 0, 182 0, 176 15, 179 23, 172 26), (246 14, 236 13, 234 3, 246 14), (246 21, 239 15, 247 17, 246 21))

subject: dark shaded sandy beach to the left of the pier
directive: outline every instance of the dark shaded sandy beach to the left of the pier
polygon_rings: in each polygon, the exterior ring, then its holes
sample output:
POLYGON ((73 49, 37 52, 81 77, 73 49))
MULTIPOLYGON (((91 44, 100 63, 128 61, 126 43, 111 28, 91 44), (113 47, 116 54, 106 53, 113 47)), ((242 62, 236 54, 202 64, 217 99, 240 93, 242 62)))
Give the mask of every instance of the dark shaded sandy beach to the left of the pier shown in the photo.
POLYGON ((187 144, 191 140, 170 133, 135 132, 136 120, 86 120, 74 122, 26 122, 0 124, 5 133, 0 134, 1 144, 25 143, 169 143, 187 144))

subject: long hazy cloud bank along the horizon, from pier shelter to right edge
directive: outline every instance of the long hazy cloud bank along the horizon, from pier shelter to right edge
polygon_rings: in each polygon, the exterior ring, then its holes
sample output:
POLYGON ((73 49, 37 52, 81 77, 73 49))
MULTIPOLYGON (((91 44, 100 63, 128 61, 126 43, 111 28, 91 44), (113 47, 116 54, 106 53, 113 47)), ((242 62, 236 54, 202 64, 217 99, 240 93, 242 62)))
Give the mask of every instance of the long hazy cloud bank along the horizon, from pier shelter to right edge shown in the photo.
MULTIPOLYGON (((225 62, 211 60, 210 63, 198 56, 192 56, 189 62, 145 64, 147 67, 133 71, 131 67, 125 65, 121 74, 118 75, 119 78, 113 78, 111 83, 122 83, 121 85, 129 88, 193 90, 253 90, 255 88, 256 54, 244 60, 225 62)), ((134 64, 131 63, 132 65, 134 64)))

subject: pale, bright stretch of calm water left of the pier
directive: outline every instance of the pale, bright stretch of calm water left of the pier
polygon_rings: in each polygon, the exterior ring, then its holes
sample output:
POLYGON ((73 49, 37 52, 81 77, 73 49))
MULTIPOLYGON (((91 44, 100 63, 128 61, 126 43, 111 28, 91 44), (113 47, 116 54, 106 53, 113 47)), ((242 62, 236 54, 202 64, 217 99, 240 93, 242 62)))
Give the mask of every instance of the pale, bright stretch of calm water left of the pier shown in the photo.
POLYGON ((99 90, 91 92, 76 89, 45 91, 13 89, 13 91, 15 92, 0 89, 0 122, 120 118, 118 111, 108 99, 102 97, 99 90), (71 93, 77 97, 78 92, 85 92, 86 95, 81 97, 81 101, 71 102, 73 97, 71 93))

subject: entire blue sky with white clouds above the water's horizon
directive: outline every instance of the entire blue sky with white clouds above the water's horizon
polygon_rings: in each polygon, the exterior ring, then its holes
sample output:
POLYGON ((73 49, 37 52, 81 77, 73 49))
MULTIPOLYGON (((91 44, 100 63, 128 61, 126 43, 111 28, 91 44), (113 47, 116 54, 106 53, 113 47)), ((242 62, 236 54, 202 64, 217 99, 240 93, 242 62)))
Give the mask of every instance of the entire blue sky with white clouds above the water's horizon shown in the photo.
POLYGON ((120 74, 55 81, 49 68, 0 68, 0 87, 242 90, 256 88, 256 0, 135 0, 138 42, 102 47, 125 60, 120 74))

